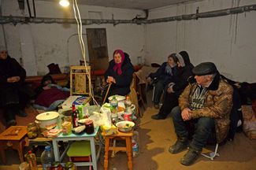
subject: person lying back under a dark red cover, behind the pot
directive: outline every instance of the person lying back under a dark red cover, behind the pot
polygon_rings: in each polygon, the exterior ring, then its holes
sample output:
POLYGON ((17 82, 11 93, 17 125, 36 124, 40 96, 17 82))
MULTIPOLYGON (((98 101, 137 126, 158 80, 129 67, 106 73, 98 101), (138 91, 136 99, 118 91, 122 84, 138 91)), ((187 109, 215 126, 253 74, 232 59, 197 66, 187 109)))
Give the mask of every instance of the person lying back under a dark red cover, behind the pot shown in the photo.
POLYGON ((41 86, 35 90, 35 109, 51 111, 57 109, 58 105, 69 98, 69 89, 54 83, 50 75, 43 76, 41 86))

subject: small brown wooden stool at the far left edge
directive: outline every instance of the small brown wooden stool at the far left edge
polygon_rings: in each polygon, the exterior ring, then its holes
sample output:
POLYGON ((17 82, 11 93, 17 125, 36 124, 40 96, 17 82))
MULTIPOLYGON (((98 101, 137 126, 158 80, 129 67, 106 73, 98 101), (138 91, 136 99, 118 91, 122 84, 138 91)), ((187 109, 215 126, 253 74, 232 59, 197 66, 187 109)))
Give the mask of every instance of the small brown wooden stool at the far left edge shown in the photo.
POLYGON ((11 126, 0 135, 0 153, 2 162, 6 164, 5 150, 8 146, 12 146, 13 150, 17 150, 20 162, 23 162, 23 147, 25 145, 25 135, 27 134, 27 126, 11 126))

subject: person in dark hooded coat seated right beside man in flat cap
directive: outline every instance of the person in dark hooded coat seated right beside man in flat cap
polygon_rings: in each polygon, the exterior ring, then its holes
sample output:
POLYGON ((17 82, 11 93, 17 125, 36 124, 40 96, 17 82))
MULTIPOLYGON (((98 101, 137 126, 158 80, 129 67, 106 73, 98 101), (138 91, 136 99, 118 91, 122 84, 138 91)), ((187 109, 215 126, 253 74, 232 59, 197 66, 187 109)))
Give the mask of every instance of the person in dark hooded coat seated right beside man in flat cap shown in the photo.
POLYGON ((164 103, 161 105, 159 113, 151 116, 154 120, 163 120, 171 113, 172 109, 179 105, 178 99, 184 88, 187 87, 187 79, 192 76, 192 68, 189 56, 186 51, 180 51, 176 54, 178 57, 177 67, 178 73, 171 83, 168 85, 167 93, 165 93, 164 103))

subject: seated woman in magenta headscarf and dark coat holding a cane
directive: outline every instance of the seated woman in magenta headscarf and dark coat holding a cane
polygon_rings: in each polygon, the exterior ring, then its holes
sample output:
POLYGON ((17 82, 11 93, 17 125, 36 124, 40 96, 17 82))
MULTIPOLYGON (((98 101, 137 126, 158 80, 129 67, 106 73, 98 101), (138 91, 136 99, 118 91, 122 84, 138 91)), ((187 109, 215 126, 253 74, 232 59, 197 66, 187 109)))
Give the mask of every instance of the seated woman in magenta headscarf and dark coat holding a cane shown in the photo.
POLYGON ((106 83, 111 84, 108 96, 129 94, 133 72, 129 55, 124 54, 122 50, 115 50, 113 60, 109 61, 109 68, 105 72, 106 83))

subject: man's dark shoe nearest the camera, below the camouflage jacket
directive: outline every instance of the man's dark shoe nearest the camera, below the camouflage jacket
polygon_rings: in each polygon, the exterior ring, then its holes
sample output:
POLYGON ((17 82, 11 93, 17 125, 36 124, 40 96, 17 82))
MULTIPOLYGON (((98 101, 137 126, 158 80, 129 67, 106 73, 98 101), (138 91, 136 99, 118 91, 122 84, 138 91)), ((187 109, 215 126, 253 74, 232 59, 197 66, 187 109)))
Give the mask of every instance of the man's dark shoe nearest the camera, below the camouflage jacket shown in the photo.
POLYGON ((198 159, 201 151, 189 149, 187 153, 184 155, 183 158, 180 160, 180 164, 184 164, 186 166, 189 166, 191 164, 194 164, 194 162, 198 159))

